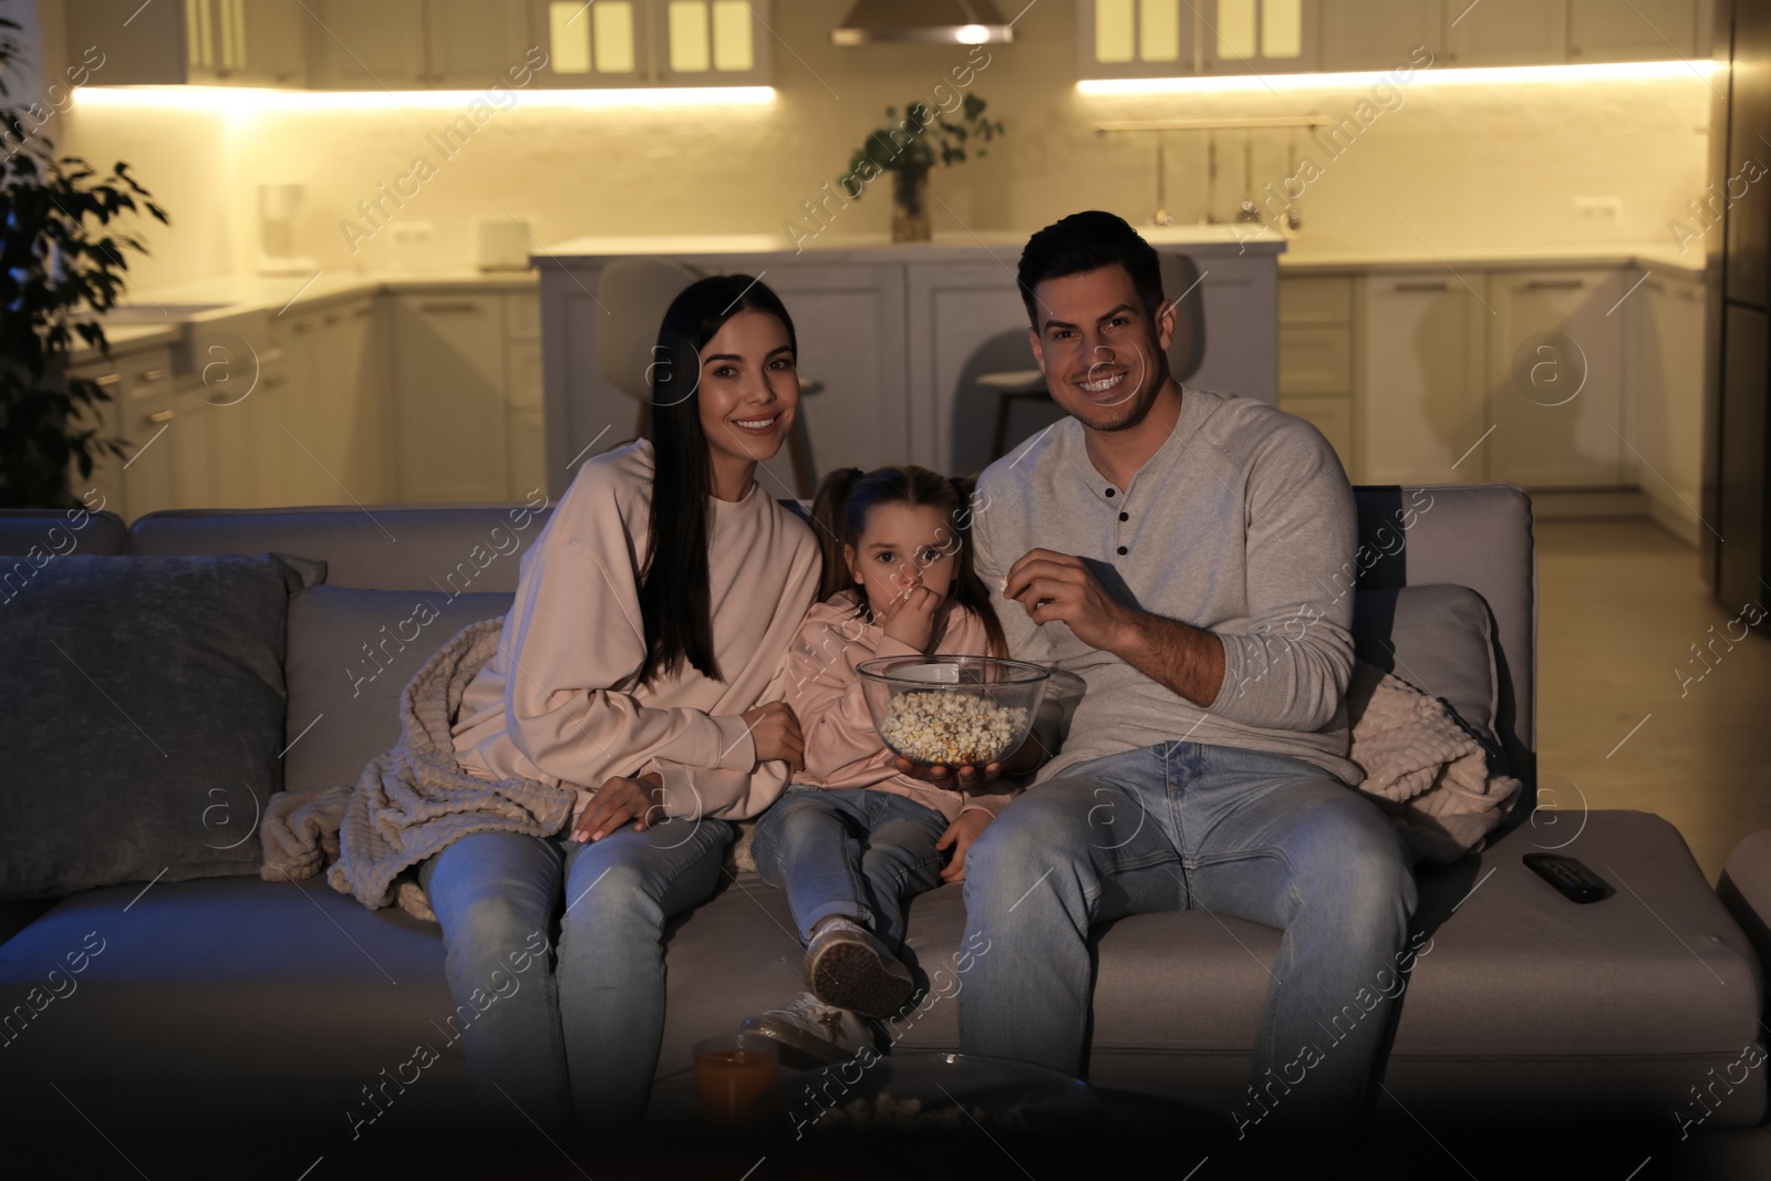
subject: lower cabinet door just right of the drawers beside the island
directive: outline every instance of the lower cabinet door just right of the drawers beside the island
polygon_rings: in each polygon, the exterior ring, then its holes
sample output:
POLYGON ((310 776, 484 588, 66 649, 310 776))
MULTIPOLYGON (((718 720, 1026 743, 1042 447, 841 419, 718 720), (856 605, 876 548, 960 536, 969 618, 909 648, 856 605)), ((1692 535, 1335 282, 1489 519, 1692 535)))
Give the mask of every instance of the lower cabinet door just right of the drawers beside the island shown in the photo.
POLYGON ((1364 289, 1360 482, 1481 483, 1488 310, 1443 271, 1373 271, 1364 289))

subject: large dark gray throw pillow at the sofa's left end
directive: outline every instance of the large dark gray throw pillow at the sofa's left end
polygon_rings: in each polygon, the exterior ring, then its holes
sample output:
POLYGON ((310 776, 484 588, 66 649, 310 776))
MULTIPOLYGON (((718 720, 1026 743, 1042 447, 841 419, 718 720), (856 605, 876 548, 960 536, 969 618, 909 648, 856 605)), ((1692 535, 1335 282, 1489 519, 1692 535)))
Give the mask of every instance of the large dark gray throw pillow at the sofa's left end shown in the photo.
POLYGON ((0 898, 255 875, 305 558, 69 554, 0 609, 0 898))

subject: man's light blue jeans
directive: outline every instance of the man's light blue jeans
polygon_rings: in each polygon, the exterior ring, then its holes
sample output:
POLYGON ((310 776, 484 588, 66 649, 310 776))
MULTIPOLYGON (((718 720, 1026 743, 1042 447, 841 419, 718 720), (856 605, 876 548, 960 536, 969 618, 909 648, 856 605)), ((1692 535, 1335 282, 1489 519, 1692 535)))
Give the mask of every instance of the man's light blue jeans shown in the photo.
POLYGON ((1415 880, 1396 825, 1328 772, 1199 742, 1080 763, 985 829, 965 908, 967 944, 990 947, 960 992, 967 1054, 1080 1075, 1089 928, 1206 910, 1284 930, 1238 1123, 1348 1126, 1369 1110, 1415 880))

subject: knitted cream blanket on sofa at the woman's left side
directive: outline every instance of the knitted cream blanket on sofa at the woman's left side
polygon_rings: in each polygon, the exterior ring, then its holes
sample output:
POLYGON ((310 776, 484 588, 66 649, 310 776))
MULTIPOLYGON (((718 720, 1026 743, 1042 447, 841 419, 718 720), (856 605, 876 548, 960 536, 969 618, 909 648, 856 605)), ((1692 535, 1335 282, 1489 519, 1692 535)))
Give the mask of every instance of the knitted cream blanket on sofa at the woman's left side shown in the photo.
POLYGON ((400 692, 400 740, 363 768, 354 788, 278 791, 264 811, 269 882, 313 876, 370 908, 398 903, 436 921, 402 873, 469 832, 553 836, 577 793, 535 779, 480 779, 455 760, 450 726, 475 673, 498 650, 503 616, 469 623, 400 692), (397 882, 397 878, 400 878, 397 882))

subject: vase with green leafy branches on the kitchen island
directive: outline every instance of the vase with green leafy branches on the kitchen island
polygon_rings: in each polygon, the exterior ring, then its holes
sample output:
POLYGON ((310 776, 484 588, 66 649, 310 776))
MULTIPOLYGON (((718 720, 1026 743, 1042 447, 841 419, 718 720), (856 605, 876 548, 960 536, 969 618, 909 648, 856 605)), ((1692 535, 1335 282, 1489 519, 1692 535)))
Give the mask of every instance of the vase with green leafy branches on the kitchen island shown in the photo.
POLYGON ((985 101, 967 94, 956 112, 944 112, 921 99, 903 108, 887 106, 878 127, 848 159, 843 191, 859 197, 882 174, 891 175, 891 239, 926 243, 930 237, 928 174, 935 161, 953 166, 969 156, 985 156, 985 143, 1002 135, 1002 122, 985 117, 985 101))

